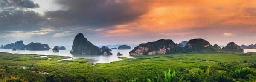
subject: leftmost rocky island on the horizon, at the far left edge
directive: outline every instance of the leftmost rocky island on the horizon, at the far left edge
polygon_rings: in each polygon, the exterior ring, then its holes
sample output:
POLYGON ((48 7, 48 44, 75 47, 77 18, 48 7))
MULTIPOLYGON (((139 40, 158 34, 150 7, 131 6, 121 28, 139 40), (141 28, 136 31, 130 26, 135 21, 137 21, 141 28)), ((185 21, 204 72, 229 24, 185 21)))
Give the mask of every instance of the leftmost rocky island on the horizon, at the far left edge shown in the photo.
POLYGON ((15 42, 15 43, 6 44, 6 45, 4 46, 4 49, 13 49, 13 48, 15 48, 15 49, 20 49, 20 48, 23 47, 23 46, 24 46, 23 41, 17 41, 17 42, 15 42))

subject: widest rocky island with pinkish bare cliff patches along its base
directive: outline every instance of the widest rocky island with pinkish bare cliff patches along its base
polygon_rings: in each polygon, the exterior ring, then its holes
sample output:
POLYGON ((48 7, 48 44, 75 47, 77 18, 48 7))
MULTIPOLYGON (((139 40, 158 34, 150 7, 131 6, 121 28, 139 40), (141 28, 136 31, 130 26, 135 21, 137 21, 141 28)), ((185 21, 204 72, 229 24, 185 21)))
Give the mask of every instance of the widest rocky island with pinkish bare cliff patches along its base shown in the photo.
POLYGON ((155 55, 155 54, 172 54, 183 53, 183 48, 177 46, 170 39, 160 39, 154 42, 140 44, 129 52, 130 55, 155 55))

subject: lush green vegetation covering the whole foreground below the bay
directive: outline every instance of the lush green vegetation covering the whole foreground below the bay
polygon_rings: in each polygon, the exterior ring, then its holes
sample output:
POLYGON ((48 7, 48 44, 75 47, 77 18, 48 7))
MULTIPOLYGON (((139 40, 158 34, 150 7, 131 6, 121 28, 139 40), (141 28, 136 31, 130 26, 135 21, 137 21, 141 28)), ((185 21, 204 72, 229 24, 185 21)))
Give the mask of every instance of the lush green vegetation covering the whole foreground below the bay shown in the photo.
POLYGON ((135 55, 136 59, 94 66, 84 58, 58 61, 70 57, 47 55, 52 58, 48 60, 38 56, 46 55, 0 53, 0 82, 147 82, 147 78, 157 80, 154 71, 163 79, 169 69, 177 69, 182 82, 256 81, 256 53, 135 55))

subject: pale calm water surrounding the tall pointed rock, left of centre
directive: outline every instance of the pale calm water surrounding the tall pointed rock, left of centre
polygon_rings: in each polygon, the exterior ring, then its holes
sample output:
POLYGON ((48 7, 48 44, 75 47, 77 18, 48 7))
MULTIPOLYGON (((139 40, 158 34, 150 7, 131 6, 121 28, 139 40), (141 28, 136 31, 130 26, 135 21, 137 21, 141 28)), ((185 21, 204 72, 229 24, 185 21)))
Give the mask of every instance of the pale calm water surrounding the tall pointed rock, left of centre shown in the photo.
MULTIPOLYGON (((133 49, 133 47, 131 48, 133 49)), ((59 56, 70 56, 73 57, 73 59, 78 59, 78 58, 85 58, 89 60, 89 63, 110 63, 113 61, 119 61, 122 60, 118 57, 128 57, 128 58, 133 58, 132 56, 129 56, 129 50, 117 50, 113 49, 111 53, 113 55, 76 55, 76 54, 70 54, 69 51, 71 48, 66 48, 66 50, 60 50, 58 53, 53 53, 52 50, 49 51, 27 51, 27 50, 17 50, 17 51, 12 51, 12 49, 0 49, 0 52, 8 52, 8 53, 18 53, 18 54, 41 54, 41 55, 59 55, 59 56), (122 56, 117 56, 117 53, 120 52, 123 54, 122 56)), ((71 58, 70 58, 71 59, 71 58)), ((68 59, 68 60, 70 60, 68 59)))

